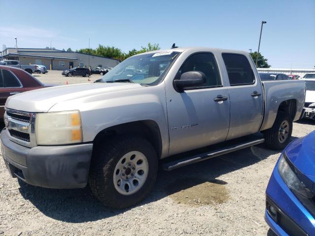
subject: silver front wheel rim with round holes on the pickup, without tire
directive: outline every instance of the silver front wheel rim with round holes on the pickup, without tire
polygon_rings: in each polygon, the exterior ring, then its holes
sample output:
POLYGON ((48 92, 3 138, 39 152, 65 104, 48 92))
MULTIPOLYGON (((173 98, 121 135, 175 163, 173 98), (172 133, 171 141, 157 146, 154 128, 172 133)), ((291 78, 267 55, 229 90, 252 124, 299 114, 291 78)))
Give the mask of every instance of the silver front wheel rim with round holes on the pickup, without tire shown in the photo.
POLYGON ((122 195, 131 195, 140 190, 149 173, 147 157, 140 151, 130 151, 117 162, 113 182, 122 195))

